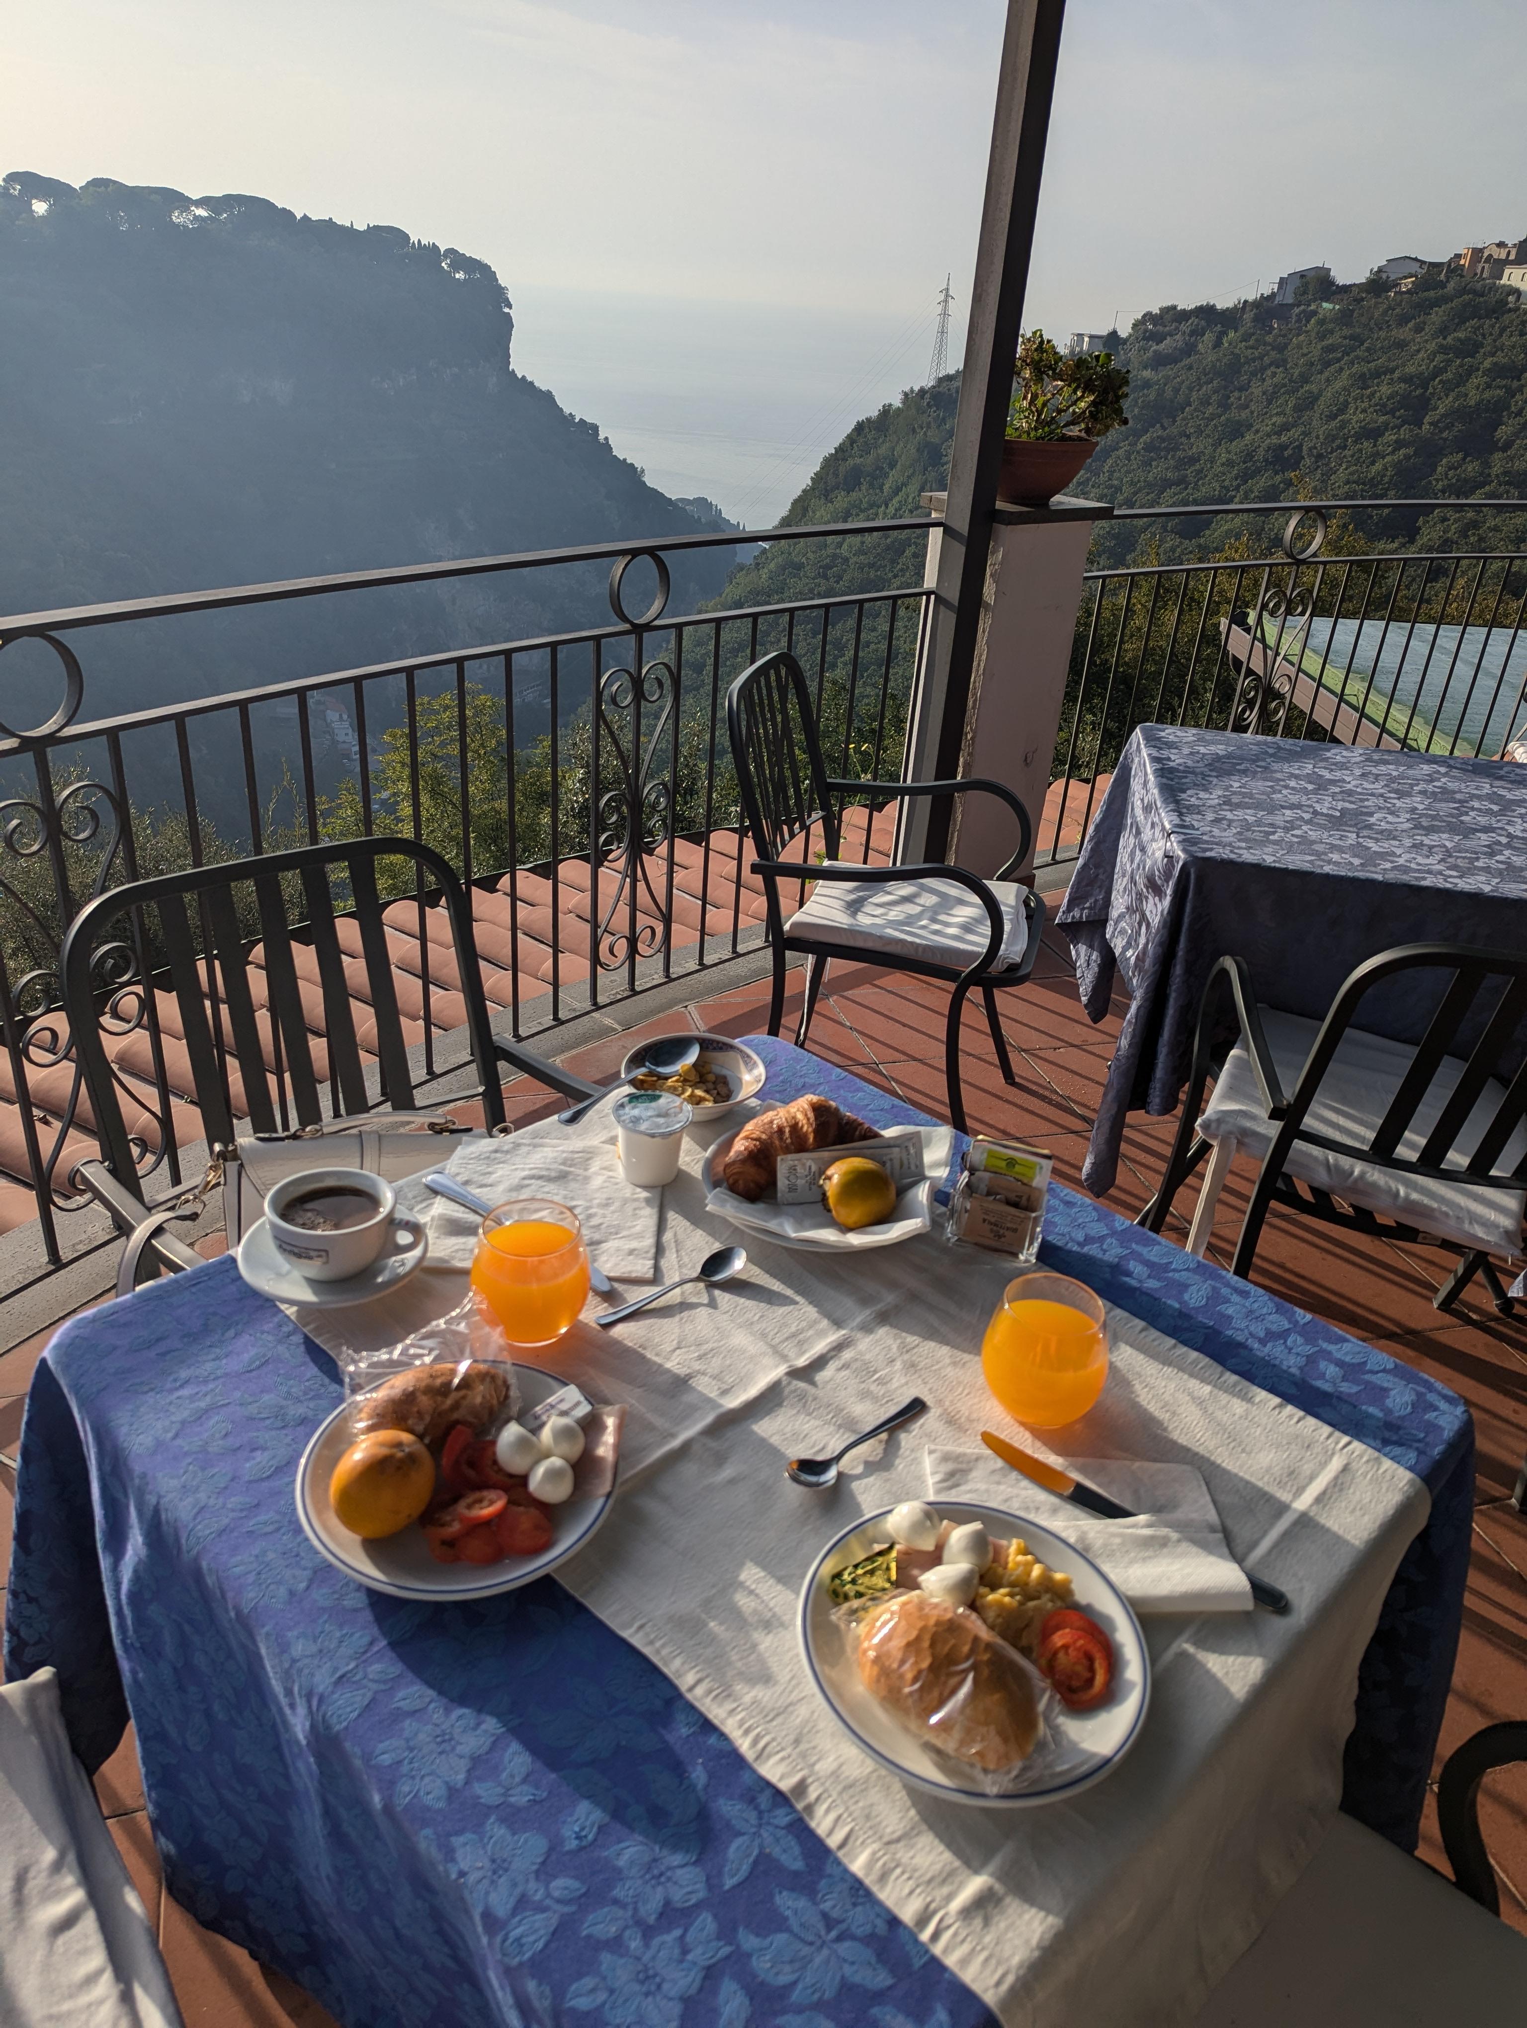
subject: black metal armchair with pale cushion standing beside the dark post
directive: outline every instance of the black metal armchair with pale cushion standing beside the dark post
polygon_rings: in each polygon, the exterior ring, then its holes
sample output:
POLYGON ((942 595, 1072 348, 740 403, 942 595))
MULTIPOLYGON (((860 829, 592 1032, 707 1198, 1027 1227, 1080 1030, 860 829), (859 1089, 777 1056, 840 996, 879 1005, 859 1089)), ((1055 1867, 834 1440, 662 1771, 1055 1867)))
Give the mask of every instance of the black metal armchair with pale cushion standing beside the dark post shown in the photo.
MULTIPOLYGON (((1034 836, 1028 811, 1000 781, 838 781, 821 758, 821 736, 811 690, 795 655, 765 655, 744 669, 726 696, 742 815, 758 858, 752 872, 765 882, 769 941, 775 953, 769 1032, 785 1016, 785 959, 809 959, 805 1004, 795 1032, 805 1046, 827 965, 833 957, 913 971, 953 986, 945 1026, 945 1077, 949 1119, 965 1132, 959 1081, 959 1016, 965 998, 979 992, 992 1046, 1004 1079, 1016 1085, 1002 1034, 998 988, 1026 986, 1038 957, 1044 902, 1032 888, 1010 882, 1024 864, 1034 836), (994 880, 963 866, 858 866, 838 858, 842 811, 850 795, 908 801, 917 795, 996 795, 1018 819, 1018 846, 994 880), (821 836, 825 856, 787 860, 797 840, 821 836), (785 917, 781 888, 795 884, 797 909, 785 917), (811 898, 805 898, 813 884, 811 898)), ((809 846, 801 844, 801 852, 809 846)))

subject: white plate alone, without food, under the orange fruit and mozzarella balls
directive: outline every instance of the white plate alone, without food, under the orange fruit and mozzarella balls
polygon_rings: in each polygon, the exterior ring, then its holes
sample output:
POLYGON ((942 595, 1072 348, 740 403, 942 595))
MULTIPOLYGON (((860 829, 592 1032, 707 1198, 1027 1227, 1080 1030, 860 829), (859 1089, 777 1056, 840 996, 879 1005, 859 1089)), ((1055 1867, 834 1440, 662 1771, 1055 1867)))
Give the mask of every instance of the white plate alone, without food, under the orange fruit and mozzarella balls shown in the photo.
MULTIPOLYGON (((568 1385, 566 1375, 546 1373, 541 1367, 517 1365, 515 1379, 519 1381, 521 1407, 535 1407, 558 1387, 568 1385)), ((424 1531, 418 1527, 383 1535, 381 1541, 363 1541, 335 1521, 335 1509, 329 1505, 329 1480, 351 1440, 347 1414, 353 1405, 355 1401, 343 1401, 326 1422, 318 1424, 312 1442, 302 1452, 302 1462, 296 1468, 296 1517, 318 1555, 326 1555, 347 1578, 355 1578, 373 1592, 387 1592, 389 1598, 430 1600, 493 1598, 497 1592, 517 1592, 521 1584, 533 1584, 558 1564, 566 1564, 610 1511, 614 1489, 600 1499, 564 1501, 552 1511, 550 1547, 541 1549, 539 1555, 511 1555, 503 1564, 436 1564, 424 1531)))

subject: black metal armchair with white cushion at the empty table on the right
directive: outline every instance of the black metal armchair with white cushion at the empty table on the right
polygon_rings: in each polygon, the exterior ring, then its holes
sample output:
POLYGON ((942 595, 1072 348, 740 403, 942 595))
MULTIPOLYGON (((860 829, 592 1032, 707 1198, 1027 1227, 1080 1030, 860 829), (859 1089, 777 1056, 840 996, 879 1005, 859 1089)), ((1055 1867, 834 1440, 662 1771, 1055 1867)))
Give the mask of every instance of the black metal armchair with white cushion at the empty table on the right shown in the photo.
MULTIPOLYGON (((1391 994, 1393 998, 1393 994, 1391 994)), ((1158 1233, 1172 1199, 1213 1150, 1188 1233, 1203 1253, 1237 1150, 1261 1158, 1231 1272, 1249 1280, 1274 1203, 1326 1225, 1440 1245, 1458 1265, 1438 1290, 1450 1310, 1490 1259, 1523 1251, 1527 1205, 1527 955, 1409 943, 1359 965, 1324 1022, 1259 1006, 1243 959, 1221 957, 1198 1006, 1192 1071, 1160 1190, 1138 1223, 1158 1233), (1369 994, 1434 971, 1417 1044, 1357 1026, 1369 994), (1499 990, 1497 990, 1499 988, 1499 990), (1225 1051, 1225 1034, 1239 1038, 1225 1051), (1466 1048, 1466 1055, 1452 1055, 1466 1048), (1201 1113, 1205 1083, 1215 1093, 1201 1113), (1286 1095, 1290 1093, 1290 1095, 1286 1095)))

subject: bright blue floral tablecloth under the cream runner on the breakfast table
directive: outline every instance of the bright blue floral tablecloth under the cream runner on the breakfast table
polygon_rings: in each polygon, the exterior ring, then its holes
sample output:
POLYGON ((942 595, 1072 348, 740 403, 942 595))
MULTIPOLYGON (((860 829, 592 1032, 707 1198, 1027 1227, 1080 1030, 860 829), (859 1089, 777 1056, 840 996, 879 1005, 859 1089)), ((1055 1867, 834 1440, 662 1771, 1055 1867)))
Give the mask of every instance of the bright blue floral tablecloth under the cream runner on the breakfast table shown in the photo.
MULTIPOLYGON (((900 1101, 752 1038, 781 1099, 900 1101)), ((1422 1474, 1344 1805, 1413 1843, 1458 1639, 1468 1411, 1059 1190, 1044 1257, 1422 1474)), ((132 1712, 170 1892, 347 2028, 986 2028, 730 1742, 554 1580, 365 1592, 292 1474, 331 1361, 221 1259, 67 1324, 26 1405, 6 1671, 55 1663, 95 1766, 132 1712)))

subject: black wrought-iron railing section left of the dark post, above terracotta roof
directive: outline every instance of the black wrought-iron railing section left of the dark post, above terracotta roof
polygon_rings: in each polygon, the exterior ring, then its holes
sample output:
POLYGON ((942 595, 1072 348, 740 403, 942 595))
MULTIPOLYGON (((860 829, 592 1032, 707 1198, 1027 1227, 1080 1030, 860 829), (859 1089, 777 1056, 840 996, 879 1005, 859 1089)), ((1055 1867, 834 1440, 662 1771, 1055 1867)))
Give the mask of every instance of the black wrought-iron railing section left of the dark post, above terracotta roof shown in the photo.
MULTIPOLYGON (((908 517, 696 533, 0 621, 0 673, 6 649, 34 641, 63 675, 63 700, 41 724, 0 724, 0 1225, 37 1215, 57 1263, 57 1215, 85 1203, 71 1172, 93 1138, 57 959, 77 911, 126 880, 324 838, 416 838, 475 886, 495 1012, 515 1036, 758 941, 726 687, 760 653, 789 647, 813 675, 835 773, 900 775, 927 592, 675 617, 665 556, 927 525, 908 517), (602 560, 612 562, 612 625, 85 716, 89 683, 77 653, 85 629, 602 560), (639 562, 655 572, 657 596, 631 610, 639 562)), ((856 840, 868 858, 868 811, 856 840)), ((424 900, 414 888, 383 898, 424 900)), ((298 896, 292 904, 300 913, 298 896)), ((410 1006, 428 1077, 452 996, 432 961, 424 911, 399 913, 397 933, 408 937, 410 915, 418 925, 410 1006)), ((253 945, 253 919, 247 931, 253 945)), ((410 961, 399 947, 399 965, 410 961)), ((152 982, 118 1028, 120 1075, 140 1117, 195 1134, 195 1111, 174 1103, 189 1093, 152 982)), ((172 1130, 144 1136, 142 1168, 180 1180, 172 1130)))

